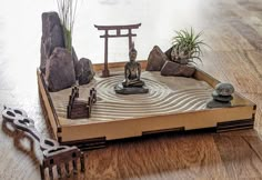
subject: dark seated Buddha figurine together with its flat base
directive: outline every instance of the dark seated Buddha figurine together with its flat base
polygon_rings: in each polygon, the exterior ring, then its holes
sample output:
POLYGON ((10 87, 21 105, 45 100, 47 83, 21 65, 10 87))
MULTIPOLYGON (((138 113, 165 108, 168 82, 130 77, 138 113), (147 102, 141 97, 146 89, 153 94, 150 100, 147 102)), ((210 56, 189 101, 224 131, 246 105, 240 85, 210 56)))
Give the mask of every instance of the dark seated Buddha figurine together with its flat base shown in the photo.
POLYGON ((121 84, 114 87, 114 91, 121 94, 148 93, 149 89, 144 87, 141 77, 141 64, 135 61, 138 51, 134 46, 129 51, 130 61, 124 66, 124 80, 121 84))

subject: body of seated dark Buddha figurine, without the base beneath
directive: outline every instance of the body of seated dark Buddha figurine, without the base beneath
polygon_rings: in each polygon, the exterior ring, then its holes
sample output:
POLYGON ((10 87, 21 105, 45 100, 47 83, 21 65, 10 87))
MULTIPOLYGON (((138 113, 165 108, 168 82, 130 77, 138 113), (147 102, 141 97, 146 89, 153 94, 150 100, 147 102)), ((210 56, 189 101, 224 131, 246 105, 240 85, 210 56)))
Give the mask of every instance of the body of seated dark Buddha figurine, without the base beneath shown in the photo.
POLYGON ((141 76, 141 66, 135 61, 137 59, 137 50, 134 47, 130 49, 129 59, 130 61, 124 66, 124 81, 122 82, 124 88, 128 87, 138 87, 141 88, 144 86, 144 82, 140 80, 141 76))

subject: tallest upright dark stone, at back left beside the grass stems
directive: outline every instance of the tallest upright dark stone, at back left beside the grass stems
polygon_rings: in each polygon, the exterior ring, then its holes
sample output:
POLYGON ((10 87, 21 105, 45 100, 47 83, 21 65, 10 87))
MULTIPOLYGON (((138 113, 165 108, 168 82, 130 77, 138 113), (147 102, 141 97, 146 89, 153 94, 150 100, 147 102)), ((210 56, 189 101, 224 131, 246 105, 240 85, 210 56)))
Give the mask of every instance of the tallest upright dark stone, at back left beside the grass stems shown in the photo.
POLYGON ((64 48, 63 29, 59 16, 57 12, 43 12, 40 63, 43 73, 46 73, 47 60, 57 47, 64 48))

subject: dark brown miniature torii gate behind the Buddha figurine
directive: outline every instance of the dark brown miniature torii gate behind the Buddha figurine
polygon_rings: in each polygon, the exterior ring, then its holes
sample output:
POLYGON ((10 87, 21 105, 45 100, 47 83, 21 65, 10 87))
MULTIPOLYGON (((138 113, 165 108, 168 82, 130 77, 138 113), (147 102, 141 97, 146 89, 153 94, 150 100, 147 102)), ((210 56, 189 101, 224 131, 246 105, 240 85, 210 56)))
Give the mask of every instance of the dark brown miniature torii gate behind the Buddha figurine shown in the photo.
POLYGON ((97 26, 98 30, 104 30, 104 34, 100 36, 100 38, 104 38, 104 69, 102 71, 102 77, 109 77, 109 68, 108 68, 108 38, 129 38, 129 49, 132 47, 132 37, 137 37, 135 33, 132 33, 133 29, 138 29, 141 23, 137 24, 127 24, 127 26, 97 26), (115 34, 109 34, 110 30, 115 30, 115 34), (121 33, 121 30, 128 30, 128 33, 121 33))

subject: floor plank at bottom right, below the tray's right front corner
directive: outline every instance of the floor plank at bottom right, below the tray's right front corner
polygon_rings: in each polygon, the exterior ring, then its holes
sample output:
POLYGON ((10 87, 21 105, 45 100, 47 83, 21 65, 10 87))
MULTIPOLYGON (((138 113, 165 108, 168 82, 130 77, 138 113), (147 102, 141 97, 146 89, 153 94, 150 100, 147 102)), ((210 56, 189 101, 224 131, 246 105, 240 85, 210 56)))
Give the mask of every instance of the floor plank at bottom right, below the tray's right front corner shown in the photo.
POLYGON ((245 138, 214 134, 214 142, 230 179, 250 179, 262 176, 262 159, 246 143, 245 138))

